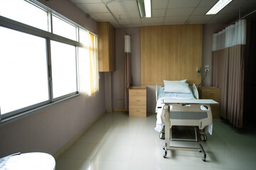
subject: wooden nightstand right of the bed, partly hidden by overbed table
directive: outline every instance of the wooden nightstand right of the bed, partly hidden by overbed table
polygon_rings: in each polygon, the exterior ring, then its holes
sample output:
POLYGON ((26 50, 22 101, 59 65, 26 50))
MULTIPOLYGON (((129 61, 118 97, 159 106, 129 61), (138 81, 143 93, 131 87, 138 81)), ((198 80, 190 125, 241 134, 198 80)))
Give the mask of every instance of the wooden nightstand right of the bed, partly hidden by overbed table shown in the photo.
POLYGON ((213 101, 217 101, 219 104, 217 106, 210 106, 213 114, 213 118, 220 118, 220 89, 215 86, 200 86, 198 89, 199 98, 202 99, 213 99, 213 101))

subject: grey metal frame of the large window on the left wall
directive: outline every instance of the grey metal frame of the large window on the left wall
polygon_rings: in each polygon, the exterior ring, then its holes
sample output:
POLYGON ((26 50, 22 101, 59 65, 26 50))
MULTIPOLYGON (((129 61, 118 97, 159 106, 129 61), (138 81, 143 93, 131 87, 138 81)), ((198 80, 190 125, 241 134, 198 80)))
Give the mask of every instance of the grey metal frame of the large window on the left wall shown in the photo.
MULTIPOLYGON (((46 61, 47 61, 47 75, 48 75, 48 100, 43 101, 41 103, 36 103, 31 106, 27 106, 24 108, 20 108, 16 111, 11 111, 9 113, 4 113, 1 115, 1 108, 0 108, 0 124, 8 122, 9 120, 13 120, 14 118, 22 117, 23 115, 28 115, 29 113, 35 113, 37 111, 41 111, 44 108, 48 108, 50 106, 55 105, 56 103, 60 103, 66 100, 69 100, 70 98, 74 98, 76 96, 80 95, 79 92, 79 65, 78 65, 78 47, 86 47, 83 43, 79 42, 79 34, 80 29, 88 31, 89 33, 92 33, 90 30, 87 30, 86 28, 78 25, 78 23, 75 23, 71 21, 70 19, 66 18, 65 16, 62 16, 60 13, 57 13, 53 11, 52 9, 48 8, 47 6, 44 6, 38 1, 35 0, 24 0, 34 6, 37 6, 38 8, 41 8, 43 11, 46 11, 48 13, 48 31, 41 30, 39 28, 35 28, 33 26, 26 25, 25 23, 20 23, 18 21, 11 20, 9 18, 6 18, 4 16, 0 16, 0 26, 4 28, 9 28, 11 30, 17 30, 21 33, 28 33, 30 35, 35 35, 40 38, 46 39, 46 61), (61 20, 75 26, 76 28, 76 40, 71 40, 69 38, 62 37, 60 35, 53 34, 53 15, 60 18, 61 20), (70 94, 65 94, 63 96, 59 96, 58 98, 53 98, 53 81, 52 81, 52 72, 51 72, 51 56, 50 56, 50 40, 54 40, 57 42, 62 42, 68 45, 75 46, 75 64, 76 64, 76 91, 70 94)), ((92 35, 97 36, 95 33, 92 33, 92 35)), ((1 107, 1 106, 0 106, 1 107)))

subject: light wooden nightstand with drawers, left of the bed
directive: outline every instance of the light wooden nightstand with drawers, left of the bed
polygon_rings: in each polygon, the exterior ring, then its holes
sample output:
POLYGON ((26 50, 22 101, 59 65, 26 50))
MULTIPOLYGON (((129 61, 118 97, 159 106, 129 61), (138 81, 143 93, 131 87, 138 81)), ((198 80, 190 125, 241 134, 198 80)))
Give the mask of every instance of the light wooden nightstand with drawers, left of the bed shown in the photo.
POLYGON ((129 88, 129 116, 146 117, 146 86, 129 88))

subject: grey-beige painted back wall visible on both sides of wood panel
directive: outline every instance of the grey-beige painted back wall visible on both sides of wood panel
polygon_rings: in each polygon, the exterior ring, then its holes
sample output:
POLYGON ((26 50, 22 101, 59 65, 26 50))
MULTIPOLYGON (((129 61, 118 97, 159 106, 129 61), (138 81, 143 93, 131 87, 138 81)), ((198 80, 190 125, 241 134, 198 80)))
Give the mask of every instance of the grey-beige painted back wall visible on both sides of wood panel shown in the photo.
MULTIPOLYGON (((209 65, 211 70, 211 54, 213 33, 224 28, 223 24, 204 25, 203 26, 203 52, 202 52, 202 79, 205 75, 205 65, 209 65)), ((140 86, 140 28, 125 29, 131 35, 132 41, 132 77, 134 86, 140 86)), ((117 70, 113 72, 113 107, 124 108, 124 30, 116 30, 116 63, 117 70)), ((210 86, 210 72, 207 75, 203 86, 210 86)), ((154 112, 156 106, 155 86, 147 85, 146 108, 149 112, 154 112)))

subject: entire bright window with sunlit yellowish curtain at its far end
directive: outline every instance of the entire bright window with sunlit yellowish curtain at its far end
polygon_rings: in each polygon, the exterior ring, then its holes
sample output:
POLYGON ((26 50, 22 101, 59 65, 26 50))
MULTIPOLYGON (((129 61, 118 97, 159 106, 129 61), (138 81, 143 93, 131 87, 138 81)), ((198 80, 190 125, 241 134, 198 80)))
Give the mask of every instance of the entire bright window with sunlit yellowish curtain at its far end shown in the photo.
POLYGON ((0 123, 98 91, 95 35, 38 1, 1 0, 0 15, 0 123))

